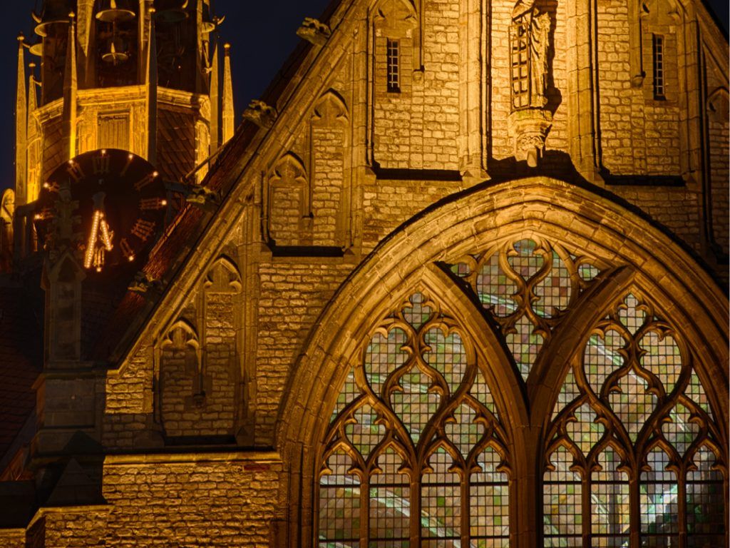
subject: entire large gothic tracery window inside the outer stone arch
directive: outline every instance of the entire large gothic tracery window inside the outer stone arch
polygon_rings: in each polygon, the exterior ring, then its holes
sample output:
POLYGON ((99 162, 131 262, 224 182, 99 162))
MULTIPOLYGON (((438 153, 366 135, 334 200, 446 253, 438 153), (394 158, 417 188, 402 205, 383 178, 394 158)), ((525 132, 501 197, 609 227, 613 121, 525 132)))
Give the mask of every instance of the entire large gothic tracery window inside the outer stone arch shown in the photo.
POLYGON ((411 292, 350 361, 318 460, 320 548, 724 545, 702 357, 650 294, 537 235, 433 268, 464 298, 411 292))

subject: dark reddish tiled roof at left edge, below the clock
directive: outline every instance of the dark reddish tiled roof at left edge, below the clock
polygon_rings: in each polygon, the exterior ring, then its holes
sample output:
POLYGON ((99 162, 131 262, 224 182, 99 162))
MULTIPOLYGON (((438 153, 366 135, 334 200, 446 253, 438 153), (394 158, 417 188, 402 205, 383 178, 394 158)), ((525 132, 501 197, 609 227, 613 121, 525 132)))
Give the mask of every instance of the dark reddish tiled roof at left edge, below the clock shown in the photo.
POLYGON ((0 460, 36 405, 43 340, 33 309, 22 287, 0 286, 0 460))

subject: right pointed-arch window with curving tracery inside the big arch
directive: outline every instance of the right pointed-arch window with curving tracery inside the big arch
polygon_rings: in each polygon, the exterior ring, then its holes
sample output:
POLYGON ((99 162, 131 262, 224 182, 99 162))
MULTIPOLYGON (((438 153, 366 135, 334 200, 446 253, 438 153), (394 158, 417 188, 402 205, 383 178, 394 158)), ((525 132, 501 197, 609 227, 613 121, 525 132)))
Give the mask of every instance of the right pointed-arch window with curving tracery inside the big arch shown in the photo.
POLYGON ((547 439, 545 546, 724 542, 720 433, 682 335, 639 292, 593 328, 547 439))

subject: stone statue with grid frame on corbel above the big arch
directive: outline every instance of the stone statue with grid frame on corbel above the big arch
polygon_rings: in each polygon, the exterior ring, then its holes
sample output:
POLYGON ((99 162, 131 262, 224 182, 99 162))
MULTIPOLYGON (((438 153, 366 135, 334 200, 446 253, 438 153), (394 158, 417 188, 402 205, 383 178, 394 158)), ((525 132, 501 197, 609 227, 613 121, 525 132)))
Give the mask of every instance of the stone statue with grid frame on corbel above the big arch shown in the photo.
POLYGON ((512 10, 512 113, 508 120, 515 157, 537 167, 553 124, 548 105, 550 76, 550 14, 534 0, 520 0, 512 10))

